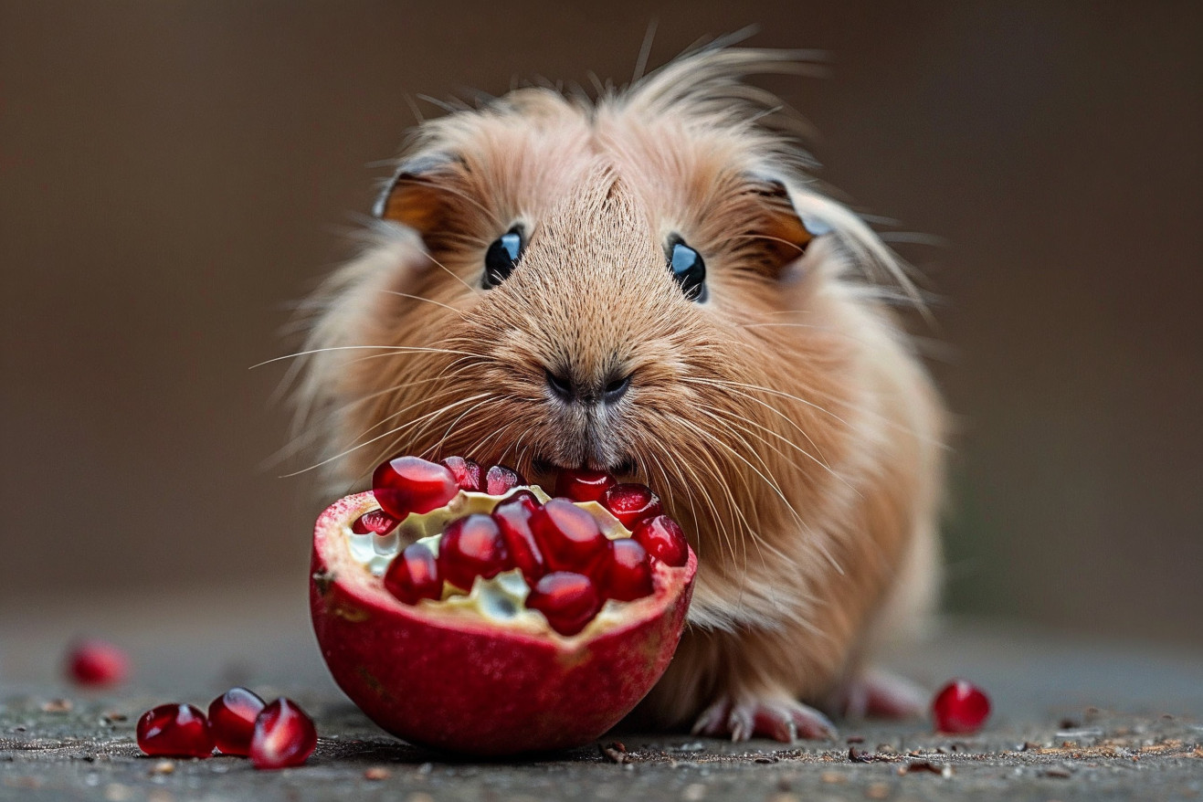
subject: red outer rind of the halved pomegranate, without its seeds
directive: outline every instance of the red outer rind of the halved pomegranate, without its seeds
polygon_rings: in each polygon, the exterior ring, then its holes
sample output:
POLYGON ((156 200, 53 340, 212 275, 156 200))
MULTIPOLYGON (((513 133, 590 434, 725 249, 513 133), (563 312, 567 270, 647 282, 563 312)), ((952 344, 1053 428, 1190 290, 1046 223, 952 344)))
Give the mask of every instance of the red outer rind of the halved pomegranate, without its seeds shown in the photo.
MULTIPOLYGON (((657 564, 654 593, 621 618, 564 637, 408 606, 350 556, 351 522, 377 506, 349 495, 318 518, 309 582, 314 632, 343 691, 405 741, 475 755, 588 743, 647 695, 685 626, 697 556, 657 564)), ((599 616, 600 618, 600 616, 599 616)))

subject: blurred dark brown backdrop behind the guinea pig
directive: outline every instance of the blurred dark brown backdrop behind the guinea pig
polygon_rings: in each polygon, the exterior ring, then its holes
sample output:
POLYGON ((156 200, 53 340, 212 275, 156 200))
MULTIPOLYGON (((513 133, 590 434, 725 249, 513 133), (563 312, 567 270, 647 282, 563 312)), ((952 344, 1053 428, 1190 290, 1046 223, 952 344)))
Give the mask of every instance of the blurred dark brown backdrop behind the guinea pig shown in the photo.
POLYGON ((900 248, 960 416, 949 606, 1198 643, 1201 10, 0 1, 0 611, 300 602, 318 507, 263 467, 284 367, 248 367, 350 253, 405 96, 622 83, 654 18, 653 65, 747 23, 830 51, 764 85, 858 208, 948 240, 900 248))

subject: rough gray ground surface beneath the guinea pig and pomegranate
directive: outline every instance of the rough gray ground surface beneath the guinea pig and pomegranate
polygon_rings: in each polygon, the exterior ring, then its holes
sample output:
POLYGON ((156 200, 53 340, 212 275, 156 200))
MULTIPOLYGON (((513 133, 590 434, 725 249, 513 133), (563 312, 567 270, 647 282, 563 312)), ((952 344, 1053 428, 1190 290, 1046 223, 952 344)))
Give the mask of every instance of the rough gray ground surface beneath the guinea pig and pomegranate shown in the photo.
POLYGON ((1191 800, 1203 797, 1203 655, 1069 641, 985 622, 947 625, 891 665, 935 685, 965 676, 995 715, 976 736, 929 724, 838 723, 793 747, 615 733, 538 759, 458 760, 413 748, 362 717, 325 675, 291 592, 0 612, 0 800, 1191 800), (75 631, 125 644, 128 687, 88 694, 58 660, 75 631), (206 705, 230 684, 288 694, 315 718, 301 768, 242 759, 158 760, 134 742, 140 713, 206 705), (620 745, 621 744, 621 745, 620 745))

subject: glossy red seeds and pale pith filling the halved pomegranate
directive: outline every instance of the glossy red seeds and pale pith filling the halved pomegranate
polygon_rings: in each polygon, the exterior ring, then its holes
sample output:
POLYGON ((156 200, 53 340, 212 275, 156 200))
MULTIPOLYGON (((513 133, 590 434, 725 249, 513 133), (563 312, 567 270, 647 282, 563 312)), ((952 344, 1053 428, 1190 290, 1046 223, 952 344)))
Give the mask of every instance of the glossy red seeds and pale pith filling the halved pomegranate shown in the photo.
POLYGON ((565 470, 556 491, 547 498, 505 465, 396 457, 373 475, 383 509, 354 522, 351 551, 407 605, 538 611, 564 636, 610 602, 652 595, 657 562, 688 562, 681 527, 645 485, 565 470))

